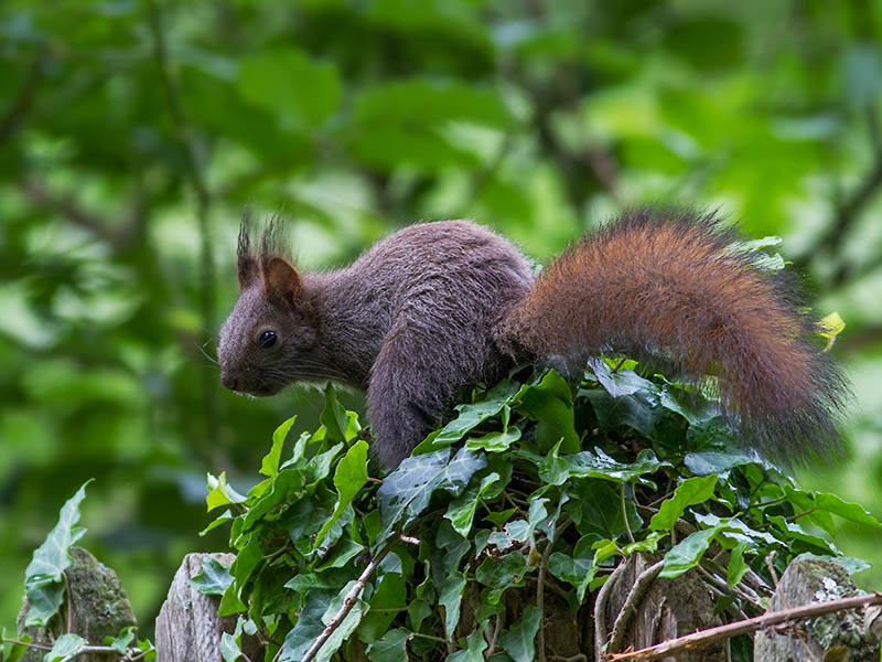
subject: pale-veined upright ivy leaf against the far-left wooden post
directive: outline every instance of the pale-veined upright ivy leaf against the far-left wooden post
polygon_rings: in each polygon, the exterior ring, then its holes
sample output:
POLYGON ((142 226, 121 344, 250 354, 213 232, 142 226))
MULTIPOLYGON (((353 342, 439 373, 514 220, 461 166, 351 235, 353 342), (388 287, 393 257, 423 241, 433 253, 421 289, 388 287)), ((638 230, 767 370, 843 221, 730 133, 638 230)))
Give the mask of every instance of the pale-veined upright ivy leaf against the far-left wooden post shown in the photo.
POLYGON ((50 531, 46 540, 34 549, 31 563, 24 570, 24 592, 28 597, 28 618, 24 624, 43 627, 57 613, 64 595, 62 573, 73 559, 71 547, 86 530, 76 524, 79 522, 79 504, 86 498, 87 480, 68 499, 58 513, 58 522, 50 531))

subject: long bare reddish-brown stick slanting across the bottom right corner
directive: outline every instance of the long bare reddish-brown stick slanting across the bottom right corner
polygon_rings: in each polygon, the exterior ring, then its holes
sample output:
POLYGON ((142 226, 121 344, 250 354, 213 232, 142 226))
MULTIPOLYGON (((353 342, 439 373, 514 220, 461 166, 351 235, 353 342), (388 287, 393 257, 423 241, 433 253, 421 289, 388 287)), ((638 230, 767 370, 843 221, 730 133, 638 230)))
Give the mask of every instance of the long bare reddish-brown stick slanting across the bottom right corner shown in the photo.
POLYGON ((676 655, 686 650, 703 648, 723 639, 730 639, 739 634, 749 634, 756 630, 763 630, 779 623, 805 620, 815 618, 816 616, 824 616, 825 613, 846 611, 848 609, 860 609, 862 607, 869 607, 870 605, 882 605, 882 594, 874 592, 865 596, 853 596, 851 598, 840 598, 828 602, 813 602, 811 605, 804 605, 793 609, 771 611, 747 620, 718 626, 717 628, 701 630, 700 632, 693 632, 686 637, 663 641, 662 643, 638 651, 612 653, 604 659, 609 662, 622 662, 623 660, 660 660, 663 658, 676 655))

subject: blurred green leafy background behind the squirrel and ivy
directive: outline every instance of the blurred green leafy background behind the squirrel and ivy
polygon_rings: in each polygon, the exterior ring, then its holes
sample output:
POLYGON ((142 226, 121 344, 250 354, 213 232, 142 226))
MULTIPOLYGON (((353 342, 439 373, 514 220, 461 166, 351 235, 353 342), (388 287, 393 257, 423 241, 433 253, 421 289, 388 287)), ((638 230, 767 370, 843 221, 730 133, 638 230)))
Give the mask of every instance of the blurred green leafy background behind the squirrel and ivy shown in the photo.
MULTIPOLYGON (((309 267, 462 216, 541 259, 652 201, 784 235, 857 392, 850 458, 805 481, 882 513, 880 30, 878 0, 6 0, 0 622, 89 477, 89 547, 148 622, 224 544, 195 535, 206 470, 315 427, 306 392, 218 385, 246 204, 309 267)), ((879 587, 875 536, 837 542, 879 587)))

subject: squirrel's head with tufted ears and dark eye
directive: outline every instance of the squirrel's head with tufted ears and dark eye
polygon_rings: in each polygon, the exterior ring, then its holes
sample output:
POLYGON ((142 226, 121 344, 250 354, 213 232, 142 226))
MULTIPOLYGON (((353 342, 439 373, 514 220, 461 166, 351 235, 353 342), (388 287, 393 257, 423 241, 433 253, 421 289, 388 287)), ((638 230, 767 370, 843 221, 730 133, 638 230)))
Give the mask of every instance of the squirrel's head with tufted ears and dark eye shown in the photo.
POLYGON ((246 216, 239 232, 239 299, 220 329, 220 383, 238 393, 275 395, 304 378, 315 327, 303 297, 303 278, 286 256, 270 222, 252 250, 246 216))

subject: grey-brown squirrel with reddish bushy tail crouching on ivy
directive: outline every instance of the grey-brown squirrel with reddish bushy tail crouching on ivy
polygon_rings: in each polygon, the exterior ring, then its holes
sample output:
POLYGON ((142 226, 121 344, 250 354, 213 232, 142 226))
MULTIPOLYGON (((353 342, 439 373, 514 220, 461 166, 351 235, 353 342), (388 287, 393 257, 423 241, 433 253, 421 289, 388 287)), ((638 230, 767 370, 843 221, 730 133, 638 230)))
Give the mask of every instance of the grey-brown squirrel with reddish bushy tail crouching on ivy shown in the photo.
POLYGON ((258 396, 302 381, 364 388, 388 468, 451 416, 460 386, 493 384, 524 361, 580 375, 610 351, 660 356, 696 381, 714 373, 744 444, 773 457, 838 442, 848 387, 798 287, 733 249, 738 235, 712 214, 627 212, 538 277, 467 221, 411 225, 326 274, 299 270, 272 224, 252 245, 249 225, 220 331, 223 385, 258 396))

